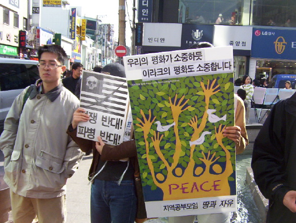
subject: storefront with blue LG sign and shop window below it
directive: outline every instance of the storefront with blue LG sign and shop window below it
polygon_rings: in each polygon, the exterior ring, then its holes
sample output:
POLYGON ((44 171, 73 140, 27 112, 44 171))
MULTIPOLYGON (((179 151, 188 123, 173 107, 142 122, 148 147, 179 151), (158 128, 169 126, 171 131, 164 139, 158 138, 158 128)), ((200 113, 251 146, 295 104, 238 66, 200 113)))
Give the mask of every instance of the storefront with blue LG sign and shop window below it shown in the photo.
POLYGON ((251 78, 296 74, 296 30, 253 28, 251 78))

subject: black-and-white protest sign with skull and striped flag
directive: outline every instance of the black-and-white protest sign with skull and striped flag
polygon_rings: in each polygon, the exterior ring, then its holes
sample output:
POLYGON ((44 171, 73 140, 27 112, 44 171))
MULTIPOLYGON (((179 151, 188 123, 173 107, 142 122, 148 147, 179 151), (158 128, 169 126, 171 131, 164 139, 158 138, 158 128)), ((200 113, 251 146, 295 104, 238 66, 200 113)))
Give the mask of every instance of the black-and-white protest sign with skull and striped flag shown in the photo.
POLYGON ((97 136, 100 136, 109 145, 122 143, 123 137, 129 136, 131 129, 130 124, 125 129, 128 101, 125 78, 83 71, 80 107, 90 119, 79 122, 77 136, 93 141, 98 141, 97 136))

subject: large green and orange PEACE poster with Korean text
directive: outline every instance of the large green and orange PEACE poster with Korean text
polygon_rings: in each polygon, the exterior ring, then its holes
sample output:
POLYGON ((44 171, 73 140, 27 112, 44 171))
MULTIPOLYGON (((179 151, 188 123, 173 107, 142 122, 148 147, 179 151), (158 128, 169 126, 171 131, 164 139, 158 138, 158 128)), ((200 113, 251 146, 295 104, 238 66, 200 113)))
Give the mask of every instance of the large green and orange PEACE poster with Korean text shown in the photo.
POLYGON ((123 60, 148 218, 236 211, 232 47, 123 60))

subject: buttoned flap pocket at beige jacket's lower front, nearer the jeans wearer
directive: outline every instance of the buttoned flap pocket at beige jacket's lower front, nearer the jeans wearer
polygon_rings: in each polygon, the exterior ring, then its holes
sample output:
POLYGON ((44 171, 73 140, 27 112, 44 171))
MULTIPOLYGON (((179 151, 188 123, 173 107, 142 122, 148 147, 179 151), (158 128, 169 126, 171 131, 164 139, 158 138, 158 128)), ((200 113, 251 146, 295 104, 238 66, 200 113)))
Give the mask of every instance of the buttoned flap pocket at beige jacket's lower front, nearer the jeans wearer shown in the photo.
POLYGON ((63 159, 49 154, 41 150, 40 154, 36 157, 36 166, 42 168, 43 170, 50 171, 52 173, 60 174, 64 171, 63 159))

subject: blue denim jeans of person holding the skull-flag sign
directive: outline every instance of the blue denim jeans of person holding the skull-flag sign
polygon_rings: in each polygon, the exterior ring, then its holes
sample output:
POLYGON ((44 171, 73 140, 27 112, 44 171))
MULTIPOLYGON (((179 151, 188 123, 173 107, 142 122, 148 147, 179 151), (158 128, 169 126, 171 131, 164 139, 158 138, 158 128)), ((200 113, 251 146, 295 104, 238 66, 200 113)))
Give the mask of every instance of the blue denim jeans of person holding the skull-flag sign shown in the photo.
POLYGON ((102 181, 91 185, 91 223, 134 223, 137 213, 136 188, 133 180, 102 181))

